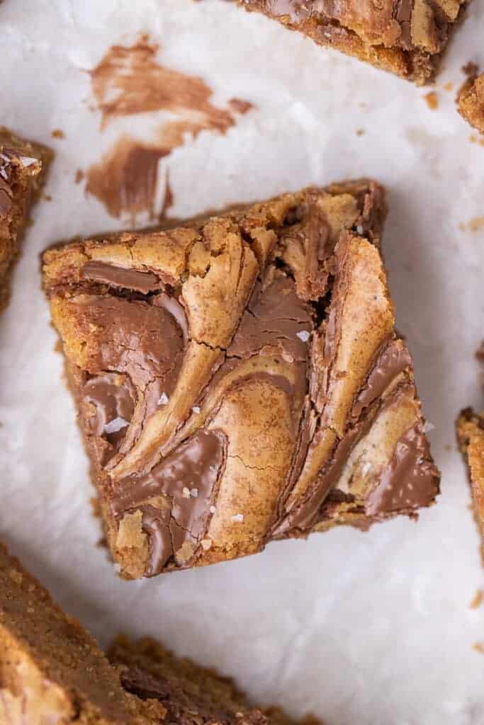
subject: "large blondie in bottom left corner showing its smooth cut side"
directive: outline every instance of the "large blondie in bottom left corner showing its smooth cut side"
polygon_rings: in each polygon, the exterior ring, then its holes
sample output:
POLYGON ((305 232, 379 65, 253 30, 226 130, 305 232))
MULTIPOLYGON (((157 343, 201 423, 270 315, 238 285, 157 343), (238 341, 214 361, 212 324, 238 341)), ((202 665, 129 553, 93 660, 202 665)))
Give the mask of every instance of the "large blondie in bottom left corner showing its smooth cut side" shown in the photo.
POLYGON ((123 689, 94 639, 0 544, 0 724, 150 725, 160 703, 123 689))

